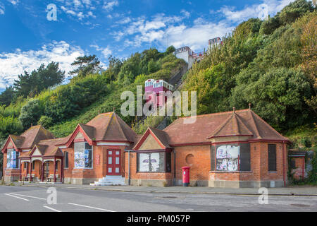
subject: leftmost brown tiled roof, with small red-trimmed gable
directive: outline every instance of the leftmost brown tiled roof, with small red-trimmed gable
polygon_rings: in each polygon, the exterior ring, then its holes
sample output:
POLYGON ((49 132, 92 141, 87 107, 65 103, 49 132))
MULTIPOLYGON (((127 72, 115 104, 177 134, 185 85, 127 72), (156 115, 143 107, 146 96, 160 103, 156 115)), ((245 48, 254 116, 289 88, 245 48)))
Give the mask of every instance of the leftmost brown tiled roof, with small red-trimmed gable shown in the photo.
POLYGON ((54 135, 46 130, 43 126, 32 126, 20 136, 10 135, 2 148, 2 152, 5 151, 10 141, 12 141, 15 149, 22 150, 31 149, 35 144, 39 143, 39 141, 53 138, 54 135))

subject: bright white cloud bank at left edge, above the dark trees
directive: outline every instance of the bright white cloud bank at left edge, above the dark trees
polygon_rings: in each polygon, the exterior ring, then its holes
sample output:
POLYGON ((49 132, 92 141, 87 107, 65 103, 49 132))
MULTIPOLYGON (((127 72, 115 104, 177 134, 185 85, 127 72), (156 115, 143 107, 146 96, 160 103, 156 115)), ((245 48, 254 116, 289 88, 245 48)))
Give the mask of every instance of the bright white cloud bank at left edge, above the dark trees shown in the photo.
POLYGON ((85 52, 77 46, 72 46, 67 42, 52 42, 46 44, 38 50, 22 52, 16 49, 11 53, 0 53, 0 88, 12 85, 14 79, 24 71, 32 71, 41 64, 49 64, 51 61, 58 62, 62 71, 72 71, 70 64, 76 57, 83 56, 85 52))

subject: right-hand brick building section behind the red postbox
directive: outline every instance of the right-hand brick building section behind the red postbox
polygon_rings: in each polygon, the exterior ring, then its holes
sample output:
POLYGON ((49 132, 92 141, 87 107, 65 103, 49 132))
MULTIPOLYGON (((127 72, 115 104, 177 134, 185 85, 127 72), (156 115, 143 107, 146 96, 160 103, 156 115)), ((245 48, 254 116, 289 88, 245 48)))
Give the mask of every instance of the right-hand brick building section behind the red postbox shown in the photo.
POLYGON ((149 128, 125 153, 125 179, 132 185, 190 183, 211 187, 277 187, 287 184, 288 139, 251 109, 177 119, 163 131, 149 128))

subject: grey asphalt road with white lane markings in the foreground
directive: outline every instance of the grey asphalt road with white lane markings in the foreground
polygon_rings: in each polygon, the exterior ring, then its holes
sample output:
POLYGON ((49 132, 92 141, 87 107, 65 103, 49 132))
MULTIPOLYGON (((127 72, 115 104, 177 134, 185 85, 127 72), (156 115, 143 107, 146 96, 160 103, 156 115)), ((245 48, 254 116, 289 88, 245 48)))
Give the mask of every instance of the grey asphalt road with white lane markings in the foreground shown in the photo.
POLYGON ((0 186, 0 211, 27 212, 175 212, 175 211, 317 211, 316 196, 160 194, 57 188, 57 204, 46 203, 47 188, 0 186))

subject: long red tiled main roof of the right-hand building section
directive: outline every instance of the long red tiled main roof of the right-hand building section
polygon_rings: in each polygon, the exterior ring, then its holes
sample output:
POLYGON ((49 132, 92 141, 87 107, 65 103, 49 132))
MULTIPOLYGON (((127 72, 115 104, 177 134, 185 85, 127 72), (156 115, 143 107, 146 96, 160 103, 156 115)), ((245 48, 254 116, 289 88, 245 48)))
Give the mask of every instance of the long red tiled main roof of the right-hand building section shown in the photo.
POLYGON ((211 136, 250 136, 249 140, 288 141, 275 131, 261 117, 250 109, 234 112, 220 112, 197 116, 194 124, 184 124, 184 118, 177 119, 164 129, 168 134, 168 143, 208 142, 211 136))

